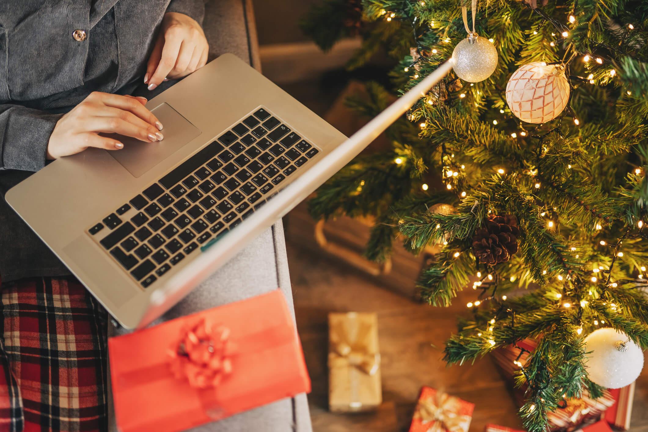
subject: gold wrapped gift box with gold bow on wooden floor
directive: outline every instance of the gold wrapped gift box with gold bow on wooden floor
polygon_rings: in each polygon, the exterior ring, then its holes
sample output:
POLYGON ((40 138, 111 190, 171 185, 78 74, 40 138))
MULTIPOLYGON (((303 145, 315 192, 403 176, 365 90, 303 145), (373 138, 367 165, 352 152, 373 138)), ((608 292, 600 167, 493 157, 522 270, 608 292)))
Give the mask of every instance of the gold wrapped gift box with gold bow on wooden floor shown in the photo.
POLYGON ((329 313, 330 411, 369 411, 381 403, 378 317, 329 313))

